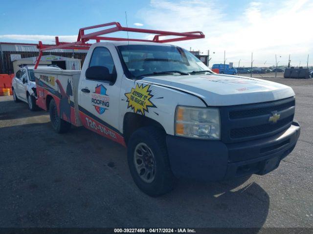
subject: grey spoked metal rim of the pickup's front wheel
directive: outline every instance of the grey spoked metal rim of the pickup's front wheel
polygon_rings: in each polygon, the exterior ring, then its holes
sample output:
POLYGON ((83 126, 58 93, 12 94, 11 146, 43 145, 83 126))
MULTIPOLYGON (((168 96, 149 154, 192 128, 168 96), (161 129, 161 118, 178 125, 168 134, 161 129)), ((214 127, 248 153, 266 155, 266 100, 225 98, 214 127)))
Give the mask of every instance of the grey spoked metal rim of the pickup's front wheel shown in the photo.
POLYGON ((150 147, 139 143, 134 151, 134 165, 140 178, 146 183, 152 183, 156 177, 155 156, 150 147))

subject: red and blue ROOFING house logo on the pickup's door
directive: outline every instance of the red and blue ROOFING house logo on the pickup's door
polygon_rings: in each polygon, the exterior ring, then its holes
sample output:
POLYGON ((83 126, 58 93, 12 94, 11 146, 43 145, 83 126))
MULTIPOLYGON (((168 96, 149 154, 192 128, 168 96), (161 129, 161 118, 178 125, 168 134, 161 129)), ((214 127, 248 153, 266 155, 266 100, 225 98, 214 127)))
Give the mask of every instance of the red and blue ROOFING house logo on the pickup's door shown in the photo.
POLYGON ((102 84, 97 85, 95 92, 91 94, 91 103, 96 112, 102 115, 110 106, 110 98, 107 95, 107 88, 102 84))

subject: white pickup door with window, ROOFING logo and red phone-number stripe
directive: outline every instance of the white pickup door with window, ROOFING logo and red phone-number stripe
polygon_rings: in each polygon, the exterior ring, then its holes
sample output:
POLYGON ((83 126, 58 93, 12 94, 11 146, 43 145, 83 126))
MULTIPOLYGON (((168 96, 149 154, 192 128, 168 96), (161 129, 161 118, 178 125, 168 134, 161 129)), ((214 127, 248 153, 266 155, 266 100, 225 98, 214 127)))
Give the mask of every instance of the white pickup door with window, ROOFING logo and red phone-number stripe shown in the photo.
POLYGON ((111 52, 105 46, 94 48, 88 68, 105 67, 115 80, 91 79, 83 71, 80 78, 79 112, 86 128, 123 144, 122 134, 118 130, 120 81, 123 73, 116 71, 111 52))

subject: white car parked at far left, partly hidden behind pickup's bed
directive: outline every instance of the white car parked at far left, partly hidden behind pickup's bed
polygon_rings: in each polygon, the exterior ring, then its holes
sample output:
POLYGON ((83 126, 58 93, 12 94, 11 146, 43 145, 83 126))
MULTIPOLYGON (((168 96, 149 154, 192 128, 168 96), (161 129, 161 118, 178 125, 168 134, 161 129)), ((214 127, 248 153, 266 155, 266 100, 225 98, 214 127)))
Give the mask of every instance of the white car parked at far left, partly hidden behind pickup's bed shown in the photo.
MULTIPOLYGON (((55 65, 40 65, 38 66, 38 69, 62 70, 55 65)), ((31 111, 37 109, 34 65, 21 65, 21 69, 17 71, 12 79, 12 91, 15 102, 19 102, 21 100, 28 103, 28 108, 31 111)))

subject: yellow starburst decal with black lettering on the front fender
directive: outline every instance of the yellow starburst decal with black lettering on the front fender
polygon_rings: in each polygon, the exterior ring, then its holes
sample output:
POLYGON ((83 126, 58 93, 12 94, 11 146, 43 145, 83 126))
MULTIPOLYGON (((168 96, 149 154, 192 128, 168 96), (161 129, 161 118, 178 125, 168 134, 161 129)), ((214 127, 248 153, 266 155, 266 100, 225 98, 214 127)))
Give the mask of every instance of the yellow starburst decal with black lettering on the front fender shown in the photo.
POLYGON ((150 85, 143 86, 143 84, 136 84, 135 88, 132 88, 130 93, 126 93, 128 106, 127 108, 132 108, 134 113, 141 112, 142 115, 145 115, 145 112, 148 111, 148 107, 156 107, 152 102, 151 90, 149 90, 150 85))

